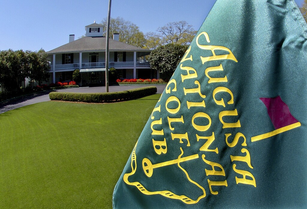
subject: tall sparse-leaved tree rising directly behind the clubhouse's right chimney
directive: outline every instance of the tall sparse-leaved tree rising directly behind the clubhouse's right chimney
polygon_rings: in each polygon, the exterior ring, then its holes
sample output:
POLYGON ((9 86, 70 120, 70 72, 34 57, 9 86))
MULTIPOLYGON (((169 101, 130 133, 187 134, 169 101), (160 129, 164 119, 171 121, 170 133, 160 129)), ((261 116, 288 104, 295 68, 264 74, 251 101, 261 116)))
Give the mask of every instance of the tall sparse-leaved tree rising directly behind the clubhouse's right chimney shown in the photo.
MULTIPOLYGON (((106 26, 107 18, 104 18, 101 24, 106 26)), ((119 34, 119 41, 133 46, 143 47, 146 43, 144 34, 139 30, 139 27, 121 17, 110 19, 109 38, 113 38, 113 34, 119 34)), ((106 32, 104 36, 106 36, 106 32)))

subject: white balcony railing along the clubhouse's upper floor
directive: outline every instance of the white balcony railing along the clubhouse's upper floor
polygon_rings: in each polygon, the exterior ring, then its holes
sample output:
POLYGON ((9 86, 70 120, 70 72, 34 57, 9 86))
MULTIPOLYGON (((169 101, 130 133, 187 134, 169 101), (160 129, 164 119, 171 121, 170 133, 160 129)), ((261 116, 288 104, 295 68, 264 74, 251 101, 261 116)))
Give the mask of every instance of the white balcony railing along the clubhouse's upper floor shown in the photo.
MULTIPOLYGON (((133 67, 134 62, 109 62, 109 67, 133 67)), ((149 62, 136 62, 136 66, 138 67, 150 67, 149 62)), ((52 70, 52 65, 50 65, 52 70)), ((91 68, 91 67, 106 67, 105 62, 88 62, 88 63, 82 63, 81 68, 91 68)), ((64 65, 55 65, 55 69, 76 69, 80 68, 79 63, 74 64, 64 64, 64 65)))

